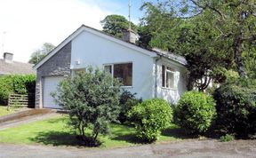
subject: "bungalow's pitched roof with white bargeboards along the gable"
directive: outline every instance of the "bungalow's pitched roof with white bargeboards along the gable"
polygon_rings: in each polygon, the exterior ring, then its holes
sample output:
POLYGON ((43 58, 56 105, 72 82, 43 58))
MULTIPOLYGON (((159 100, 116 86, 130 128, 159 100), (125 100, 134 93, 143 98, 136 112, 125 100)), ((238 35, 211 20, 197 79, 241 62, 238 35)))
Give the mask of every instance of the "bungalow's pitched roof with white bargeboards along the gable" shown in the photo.
POLYGON ((164 57, 166 59, 171 59, 177 63, 179 63, 181 66, 186 66, 187 65, 187 61, 184 57, 181 57, 179 55, 176 55, 172 52, 167 52, 167 51, 162 51, 162 50, 156 50, 156 49, 145 49, 142 48, 138 45, 136 45, 135 43, 130 43, 130 42, 126 42, 120 38, 116 38, 115 36, 111 36, 106 34, 103 31, 100 31, 99 29, 96 28, 91 28, 85 25, 82 25, 80 28, 77 28, 76 31, 74 33, 72 33, 70 36, 68 36, 64 41, 62 41, 57 47, 55 47, 55 49, 53 49, 52 51, 50 51, 45 57, 44 59, 41 59, 38 63, 36 63, 36 65, 34 66, 34 68, 38 68, 41 67, 45 61, 47 61, 48 59, 50 59, 56 52, 60 51, 60 49, 66 45, 67 43, 69 43, 70 41, 72 41, 76 36, 78 36, 81 32, 83 32, 84 30, 87 30, 89 32, 91 32, 92 34, 97 34, 98 36, 103 36, 105 38, 107 38, 108 40, 111 41, 115 41, 116 43, 120 43, 123 44, 127 47, 130 47, 132 49, 135 49, 137 51, 140 51, 142 53, 146 53, 149 56, 154 56, 152 54, 156 54, 158 56, 164 57))

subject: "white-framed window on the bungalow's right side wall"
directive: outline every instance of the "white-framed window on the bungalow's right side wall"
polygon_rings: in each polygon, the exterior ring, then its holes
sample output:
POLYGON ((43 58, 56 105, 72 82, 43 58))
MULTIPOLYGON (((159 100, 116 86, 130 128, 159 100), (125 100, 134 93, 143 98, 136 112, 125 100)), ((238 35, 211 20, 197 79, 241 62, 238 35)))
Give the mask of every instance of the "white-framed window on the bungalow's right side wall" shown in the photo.
POLYGON ((164 88, 175 88, 174 70, 171 67, 162 66, 162 86, 164 88))

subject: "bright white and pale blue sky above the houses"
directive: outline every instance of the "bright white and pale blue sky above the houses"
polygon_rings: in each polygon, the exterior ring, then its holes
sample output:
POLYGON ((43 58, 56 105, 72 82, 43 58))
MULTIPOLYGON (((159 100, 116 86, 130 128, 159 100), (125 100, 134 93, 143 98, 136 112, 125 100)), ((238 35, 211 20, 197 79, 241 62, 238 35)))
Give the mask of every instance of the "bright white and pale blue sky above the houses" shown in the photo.
MULTIPOLYGON (((131 0, 132 22, 138 24, 144 2, 131 0)), ((0 59, 12 52, 13 60, 28 62, 43 43, 58 45, 82 24, 101 29, 109 14, 128 19, 129 0, 0 0, 0 59)))

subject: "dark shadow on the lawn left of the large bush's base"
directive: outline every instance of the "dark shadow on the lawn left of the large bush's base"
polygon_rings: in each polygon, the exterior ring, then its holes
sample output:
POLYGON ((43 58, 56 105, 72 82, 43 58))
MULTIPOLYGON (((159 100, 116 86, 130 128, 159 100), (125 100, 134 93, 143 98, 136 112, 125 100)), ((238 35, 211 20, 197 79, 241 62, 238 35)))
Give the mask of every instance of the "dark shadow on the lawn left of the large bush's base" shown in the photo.
POLYGON ((52 146, 84 146, 82 141, 76 138, 75 134, 65 131, 47 131, 40 132, 36 138, 29 138, 30 140, 44 145, 52 146))

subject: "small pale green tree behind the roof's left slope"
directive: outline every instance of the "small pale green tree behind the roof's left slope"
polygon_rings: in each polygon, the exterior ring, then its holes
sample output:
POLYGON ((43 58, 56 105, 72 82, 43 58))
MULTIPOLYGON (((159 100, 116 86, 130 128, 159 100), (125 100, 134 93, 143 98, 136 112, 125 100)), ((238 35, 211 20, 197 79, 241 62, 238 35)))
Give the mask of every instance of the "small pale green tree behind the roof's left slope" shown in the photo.
POLYGON ((28 60, 28 63, 30 64, 36 64, 38 61, 40 61, 41 59, 44 59, 44 57, 53 49, 55 48, 55 46, 52 43, 44 43, 43 46, 34 51, 31 56, 30 59, 28 60))

